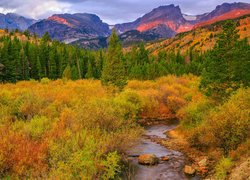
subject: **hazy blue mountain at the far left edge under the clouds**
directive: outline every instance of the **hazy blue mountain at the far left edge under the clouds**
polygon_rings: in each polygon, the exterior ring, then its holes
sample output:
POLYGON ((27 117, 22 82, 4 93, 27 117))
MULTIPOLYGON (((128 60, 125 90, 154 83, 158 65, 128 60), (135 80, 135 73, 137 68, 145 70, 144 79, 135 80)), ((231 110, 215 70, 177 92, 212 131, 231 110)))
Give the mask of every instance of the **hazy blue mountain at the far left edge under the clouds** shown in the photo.
POLYGON ((28 29, 29 26, 36 23, 36 20, 25 18, 18 14, 8 13, 0 14, 0 29, 15 30, 19 29, 24 31, 28 29))

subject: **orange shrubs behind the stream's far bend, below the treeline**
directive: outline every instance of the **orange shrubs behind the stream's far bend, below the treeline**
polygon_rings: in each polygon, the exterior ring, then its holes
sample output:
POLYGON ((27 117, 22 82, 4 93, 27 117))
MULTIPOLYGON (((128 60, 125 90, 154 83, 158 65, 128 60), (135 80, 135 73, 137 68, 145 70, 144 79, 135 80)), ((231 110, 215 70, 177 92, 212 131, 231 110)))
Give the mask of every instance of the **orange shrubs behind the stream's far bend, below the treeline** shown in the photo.
POLYGON ((199 78, 193 75, 166 76, 155 81, 129 81, 126 89, 135 91, 141 103, 141 117, 151 119, 175 118, 197 94, 199 78))

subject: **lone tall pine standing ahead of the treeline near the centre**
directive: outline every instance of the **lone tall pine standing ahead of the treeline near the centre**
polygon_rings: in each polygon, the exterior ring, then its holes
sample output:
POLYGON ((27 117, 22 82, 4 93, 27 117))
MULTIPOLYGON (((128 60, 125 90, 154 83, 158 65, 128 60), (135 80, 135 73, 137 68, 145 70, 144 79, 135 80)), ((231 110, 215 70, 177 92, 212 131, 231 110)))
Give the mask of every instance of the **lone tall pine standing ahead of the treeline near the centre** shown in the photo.
POLYGON ((116 31, 113 30, 109 39, 108 55, 102 71, 102 83, 123 88, 127 79, 122 61, 122 45, 116 31))

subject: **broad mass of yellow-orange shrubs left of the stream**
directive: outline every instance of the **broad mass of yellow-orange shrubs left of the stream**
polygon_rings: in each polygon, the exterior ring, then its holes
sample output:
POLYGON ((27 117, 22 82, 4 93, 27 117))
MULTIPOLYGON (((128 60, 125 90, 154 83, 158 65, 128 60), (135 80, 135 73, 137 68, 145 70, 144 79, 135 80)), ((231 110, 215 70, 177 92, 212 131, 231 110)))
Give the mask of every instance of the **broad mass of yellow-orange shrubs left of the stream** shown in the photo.
POLYGON ((95 80, 0 85, 0 178, 115 178, 141 103, 95 80))

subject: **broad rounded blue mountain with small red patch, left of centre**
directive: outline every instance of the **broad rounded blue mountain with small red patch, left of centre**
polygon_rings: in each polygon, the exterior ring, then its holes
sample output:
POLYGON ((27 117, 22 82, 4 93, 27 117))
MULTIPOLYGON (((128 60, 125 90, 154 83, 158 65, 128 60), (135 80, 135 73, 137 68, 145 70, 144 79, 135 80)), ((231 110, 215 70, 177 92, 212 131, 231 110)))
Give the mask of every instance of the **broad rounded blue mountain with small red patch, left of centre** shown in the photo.
POLYGON ((42 36, 48 32, 52 39, 70 43, 80 38, 96 38, 110 34, 109 25, 87 13, 55 14, 29 27, 29 31, 42 36))

